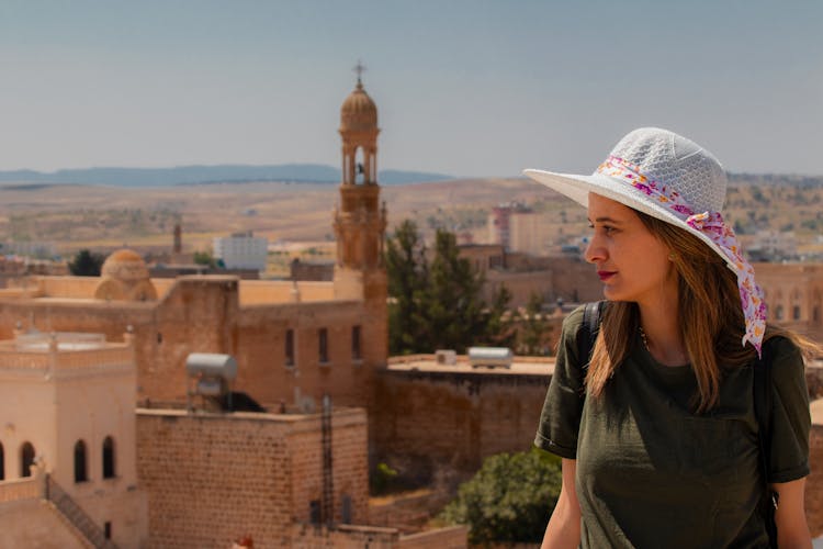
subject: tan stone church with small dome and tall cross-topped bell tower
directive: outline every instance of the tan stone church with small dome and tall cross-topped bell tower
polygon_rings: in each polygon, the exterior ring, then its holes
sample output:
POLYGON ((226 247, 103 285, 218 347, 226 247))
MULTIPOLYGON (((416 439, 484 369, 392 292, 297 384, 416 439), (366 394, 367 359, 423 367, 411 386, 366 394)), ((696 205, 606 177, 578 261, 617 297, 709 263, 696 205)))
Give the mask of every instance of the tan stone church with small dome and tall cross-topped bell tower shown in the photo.
POLYGON ((136 397, 179 401, 190 352, 236 357, 237 386, 262 403, 368 405, 387 358, 386 209, 376 181, 377 111, 358 80, 340 111, 342 182, 331 281, 151 279, 132 250, 113 253, 101 278, 37 277, 0 290, 0 338, 23 329, 134 334, 136 397))

